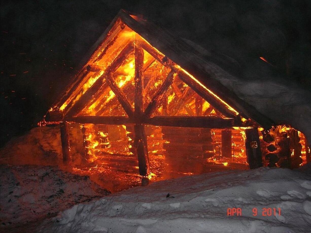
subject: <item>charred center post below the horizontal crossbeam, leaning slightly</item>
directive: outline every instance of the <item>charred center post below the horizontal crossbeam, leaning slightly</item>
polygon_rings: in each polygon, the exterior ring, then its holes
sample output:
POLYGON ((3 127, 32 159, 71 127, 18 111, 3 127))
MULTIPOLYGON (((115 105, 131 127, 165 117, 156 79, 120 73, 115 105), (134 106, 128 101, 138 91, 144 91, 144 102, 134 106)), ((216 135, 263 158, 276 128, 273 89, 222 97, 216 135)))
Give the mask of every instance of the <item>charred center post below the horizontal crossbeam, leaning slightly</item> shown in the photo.
POLYGON ((146 176, 149 173, 149 159, 145 128, 142 124, 136 124, 134 126, 134 131, 134 147, 137 149, 139 174, 141 176, 146 176))

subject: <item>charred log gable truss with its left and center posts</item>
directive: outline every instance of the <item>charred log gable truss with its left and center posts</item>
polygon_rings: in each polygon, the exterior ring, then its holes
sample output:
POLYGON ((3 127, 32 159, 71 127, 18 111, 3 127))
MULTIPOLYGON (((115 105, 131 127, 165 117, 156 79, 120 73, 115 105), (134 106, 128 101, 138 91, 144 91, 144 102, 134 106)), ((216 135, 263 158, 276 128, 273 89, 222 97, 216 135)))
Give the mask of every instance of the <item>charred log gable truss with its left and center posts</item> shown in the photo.
MULTIPOLYGON (((115 31, 120 30, 115 28, 115 31)), ((116 34, 116 32, 114 32, 116 34)), ((109 43, 113 43, 111 40, 109 43)), ((111 46, 107 43, 106 46, 111 46)), ((102 52, 102 54, 105 51, 102 52)), ((97 61, 103 55, 100 54, 95 61, 97 61)), ((147 138, 145 133, 145 125, 155 126, 176 126, 176 127, 201 127, 201 128, 228 128, 232 126, 242 126, 239 116, 236 112, 232 111, 224 102, 215 98, 215 95, 209 91, 199 82, 197 82, 188 72, 181 69, 177 64, 174 64, 169 58, 162 55, 154 47, 152 47, 146 40, 140 36, 136 36, 134 40, 128 40, 125 42, 125 46, 111 63, 101 72, 103 67, 93 62, 85 66, 85 68, 77 75, 79 77, 73 83, 69 92, 67 92, 61 99, 63 103, 66 99, 75 93, 75 96, 81 95, 80 98, 72 98, 68 101, 64 107, 63 112, 51 111, 48 112, 45 117, 46 121, 58 121, 61 124, 61 137, 63 146, 63 158, 65 161, 69 158, 68 137, 66 122, 77 123, 91 123, 91 124, 135 124, 134 132, 134 146, 137 150, 137 156, 139 161, 139 173, 142 176, 146 176, 149 173, 148 165, 148 149, 147 138), (144 64, 144 52, 148 52, 152 59, 144 64), (128 90, 130 90, 130 83, 126 83, 122 88, 116 83, 114 76, 118 72, 118 68, 123 64, 123 61, 130 55, 134 54, 135 59, 135 74, 134 74, 134 107, 127 97, 128 90), (154 61, 159 62, 167 69, 169 73, 163 80, 160 88, 158 88, 155 94, 150 97, 146 94, 152 85, 154 85, 155 76, 151 77, 147 83, 144 82, 144 71, 153 64, 154 61), (98 78, 84 93, 77 92, 77 87, 80 85, 82 79, 93 72, 94 76, 98 78), (174 80, 179 79, 184 82, 187 87, 180 90, 180 88, 174 83, 174 80), (113 106, 115 100, 107 100, 99 102, 94 108, 96 112, 95 116, 81 116, 79 112, 85 107, 91 106, 99 99, 103 93, 108 94, 108 90, 114 93, 117 101, 121 104, 123 110, 127 116, 102 116, 101 114, 107 110, 107 108, 113 106), (178 101, 168 105, 168 90, 171 88, 178 96, 178 101), (195 108, 191 109, 186 104, 190 98, 195 98, 195 108), (144 107, 144 99, 148 99, 149 103, 144 107), (210 103, 204 112, 202 111, 202 102, 207 101, 210 103), (161 116, 159 116, 159 106, 162 106, 161 116), (184 109, 187 112, 187 116, 177 116, 177 112, 180 109, 184 109), (212 111, 215 111, 217 115, 225 117, 211 117, 208 115, 212 111)), ((121 74, 122 75, 122 74, 121 74)), ((59 106, 58 106, 59 107, 59 106)))

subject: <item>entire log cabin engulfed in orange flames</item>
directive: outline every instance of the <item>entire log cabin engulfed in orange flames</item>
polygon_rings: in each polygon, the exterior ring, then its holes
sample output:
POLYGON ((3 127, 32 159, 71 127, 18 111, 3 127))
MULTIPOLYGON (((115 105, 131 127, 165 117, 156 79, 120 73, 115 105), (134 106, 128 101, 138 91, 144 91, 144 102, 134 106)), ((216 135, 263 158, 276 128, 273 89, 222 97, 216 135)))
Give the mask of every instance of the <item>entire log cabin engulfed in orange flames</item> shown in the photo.
POLYGON ((144 177, 309 161, 304 135, 276 126, 213 78, 229 75, 216 63, 121 10, 40 124, 60 125, 65 162, 68 124, 79 124, 86 161, 144 177))

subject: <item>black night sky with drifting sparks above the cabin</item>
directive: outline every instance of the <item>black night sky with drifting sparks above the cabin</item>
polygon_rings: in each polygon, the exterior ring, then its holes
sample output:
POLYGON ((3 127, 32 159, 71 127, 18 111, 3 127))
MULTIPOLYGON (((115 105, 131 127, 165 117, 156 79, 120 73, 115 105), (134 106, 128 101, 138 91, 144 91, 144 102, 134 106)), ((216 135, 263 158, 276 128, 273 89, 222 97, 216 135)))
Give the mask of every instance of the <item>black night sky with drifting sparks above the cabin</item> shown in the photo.
POLYGON ((244 71, 311 89, 310 5, 286 0, 2 1, 0 145, 36 126, 121 8, 236 59, 244 71))

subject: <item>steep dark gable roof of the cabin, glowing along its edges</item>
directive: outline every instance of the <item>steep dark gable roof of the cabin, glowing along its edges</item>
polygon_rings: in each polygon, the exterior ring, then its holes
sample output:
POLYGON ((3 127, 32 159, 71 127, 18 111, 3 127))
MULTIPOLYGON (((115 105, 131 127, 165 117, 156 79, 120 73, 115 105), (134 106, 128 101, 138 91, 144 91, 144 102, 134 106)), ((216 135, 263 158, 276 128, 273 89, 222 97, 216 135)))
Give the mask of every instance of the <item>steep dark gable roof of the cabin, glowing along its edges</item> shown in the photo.
MULTIPOLYGON (((90 52, 86 55, 86 60, 88 62, 84 64, 84 68, 77 74, 73 83, 67 88, 62 97, 54 105, 53 109, 63 110, 66 108, 67 105, 65 103, 69 103, 68 99, 70 98, 70 94, 81 85, 81 77, 85 78, 87 75, 84 73, 85 69, 96 69, 96 67, 93 68, 88 65, 90 61, 94 61, 95 56, 98 56, 96 51, 103 47, 103 43, 108 40, 109 36, 112 36, 111 33, 114 33, 114 27, 118 27, 123 23, 140 35, 146 44, 154 48, 153 51, 149 51, 154 53, 152 55, 158 56, 159 59, 163 59, 163 56, 165 56, 166 59, 172 61, 172 64, 177 64, 178 68, 175 68, 190 77, 190 79, 192 79, 190 81, 199 83, 199 88, 204 89, 210 101, 214 101, 215 105, 217 105, 218 102, 224 104, 227 109, 229 109, 229 111, 225 109, 225 112, 231 115, 227 115, 228 117, 241 116, 241 118, 250 118, 264 128, 270 128, 273 125, 272 120, 263 116, 253 106, 244 102, 232 90, 228 89, 214 78, 215 75, 226 78, 238 75, 236 73, 234 74, 234 72, 230 72, 232 71, 232 67, 230 67, 229 62, 226 63, 223 59, 219 61, 219 59, 216 58, 202 58, 198 56, 195 50, 185 41, 174 37, 165 29, 143 20, 141 17, 131 15, 124 10, 120 10, 109 27, 92 46, 90 52), (206 70, 207 66, 210 68, 208 71, 206 70)), ((104 51, 101 51, 101 53, 103 54, 104 51)), ((107 65, 108 64, 105 64, 105 67, 107 67, 107 65)), ((99 72, 97 75, 99 77, 102 73, 99 72)), ((96 79, 94 77, 91 78, 96 79)), ((96 80, 94 82, 96 82, 96 80)), ((93 83, 91 83, 91 85, 93 83)), ((83 95, 84 94, 85 92, 83 95)))

